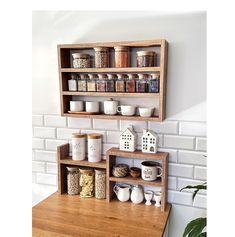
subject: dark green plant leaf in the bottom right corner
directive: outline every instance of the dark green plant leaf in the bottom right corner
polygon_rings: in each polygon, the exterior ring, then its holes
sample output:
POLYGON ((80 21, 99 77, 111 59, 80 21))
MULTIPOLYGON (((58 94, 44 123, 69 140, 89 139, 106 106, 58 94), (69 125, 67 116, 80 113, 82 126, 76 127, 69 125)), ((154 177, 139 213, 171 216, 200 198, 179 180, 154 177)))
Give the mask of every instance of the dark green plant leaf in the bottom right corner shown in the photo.
MULTIPOLYGON (((206 226, 206 218, 197 218, 189 222, 184 230, 183 237, 199 237, 206 226)), ((203 237, 203 235, 201 236, 203 237)))

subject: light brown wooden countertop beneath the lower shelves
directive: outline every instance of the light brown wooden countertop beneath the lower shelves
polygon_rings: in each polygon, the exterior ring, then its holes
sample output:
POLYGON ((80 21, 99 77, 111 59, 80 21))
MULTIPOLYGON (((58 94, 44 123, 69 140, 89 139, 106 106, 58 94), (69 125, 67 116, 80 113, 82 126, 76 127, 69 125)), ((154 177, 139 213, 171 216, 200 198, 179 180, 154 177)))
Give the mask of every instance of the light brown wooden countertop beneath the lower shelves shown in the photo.
POLYGON ((34 237, 161 237, 167 224, 171 205, 166 211, 154 205, 133 204, 57 192, 33 207, 34 237))

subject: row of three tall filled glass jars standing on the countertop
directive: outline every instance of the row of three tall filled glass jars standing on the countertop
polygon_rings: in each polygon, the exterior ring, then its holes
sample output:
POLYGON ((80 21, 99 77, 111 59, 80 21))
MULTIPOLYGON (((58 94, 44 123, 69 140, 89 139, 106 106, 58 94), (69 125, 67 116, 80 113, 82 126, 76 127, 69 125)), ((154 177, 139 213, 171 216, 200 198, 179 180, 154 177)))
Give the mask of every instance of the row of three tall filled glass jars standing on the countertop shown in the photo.
POLYGON ((106 195, 106 172, 101 169, 66 167, 69 195, 104 199, 106 195))

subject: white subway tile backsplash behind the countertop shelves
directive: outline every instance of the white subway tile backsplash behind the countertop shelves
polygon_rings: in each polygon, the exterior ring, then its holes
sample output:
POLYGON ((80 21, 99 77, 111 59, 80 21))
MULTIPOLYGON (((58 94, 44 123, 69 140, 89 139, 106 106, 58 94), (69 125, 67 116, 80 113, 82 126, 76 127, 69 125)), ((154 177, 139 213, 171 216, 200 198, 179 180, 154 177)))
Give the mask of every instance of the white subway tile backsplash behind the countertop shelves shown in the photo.
MULTIPOLYGON (((32 124, 32 179, 35 183, 57 185, 56 147, 71 142, 72 133, 101 133, 105 155, 109 148, 119 146, 121 131, 133 125, 138 133, 139 148, 143 129, 150 129, 159 135, 159 151, 169 152, 168 201, 206 208, 206 191, 201 191, 194 202, 191 191, 180 192, 186 185, 197 185, 206 180, 206 122, 166 120, 157 123, 37 114, 32 116, 32 124)), ((142 161, 122 159, 120 162, 140 167, 142 161)))

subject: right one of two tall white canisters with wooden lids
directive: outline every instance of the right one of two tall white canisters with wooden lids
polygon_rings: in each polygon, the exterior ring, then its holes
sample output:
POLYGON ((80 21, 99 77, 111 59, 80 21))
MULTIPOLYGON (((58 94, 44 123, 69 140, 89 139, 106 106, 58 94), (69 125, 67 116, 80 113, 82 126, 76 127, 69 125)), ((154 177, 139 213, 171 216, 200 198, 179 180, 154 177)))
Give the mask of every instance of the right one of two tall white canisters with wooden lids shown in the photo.
POLYGON ((101 161, 101 134, 92 133, 88 134, 88 161, 100 162, 101 161))

